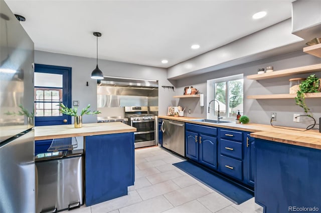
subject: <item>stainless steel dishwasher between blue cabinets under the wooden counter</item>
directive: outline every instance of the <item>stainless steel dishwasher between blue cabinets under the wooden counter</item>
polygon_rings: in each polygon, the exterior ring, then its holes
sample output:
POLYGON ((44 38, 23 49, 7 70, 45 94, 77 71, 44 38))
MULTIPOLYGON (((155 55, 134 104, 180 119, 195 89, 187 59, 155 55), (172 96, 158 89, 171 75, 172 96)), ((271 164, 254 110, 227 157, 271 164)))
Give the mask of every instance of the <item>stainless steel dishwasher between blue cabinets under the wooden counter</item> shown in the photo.
POLYGON ((185 156, 185 123, 163 119, 163 146, 185 156))

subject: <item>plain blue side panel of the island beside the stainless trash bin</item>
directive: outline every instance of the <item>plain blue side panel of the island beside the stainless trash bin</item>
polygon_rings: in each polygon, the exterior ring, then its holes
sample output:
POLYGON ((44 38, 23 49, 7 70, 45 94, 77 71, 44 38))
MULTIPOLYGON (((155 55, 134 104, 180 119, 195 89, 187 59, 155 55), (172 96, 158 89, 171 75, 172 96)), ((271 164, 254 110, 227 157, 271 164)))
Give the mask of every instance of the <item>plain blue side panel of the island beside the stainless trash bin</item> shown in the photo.
POLYGON ((86 136, 86 205, 126 195, 133 184, 134 133, 86 136))

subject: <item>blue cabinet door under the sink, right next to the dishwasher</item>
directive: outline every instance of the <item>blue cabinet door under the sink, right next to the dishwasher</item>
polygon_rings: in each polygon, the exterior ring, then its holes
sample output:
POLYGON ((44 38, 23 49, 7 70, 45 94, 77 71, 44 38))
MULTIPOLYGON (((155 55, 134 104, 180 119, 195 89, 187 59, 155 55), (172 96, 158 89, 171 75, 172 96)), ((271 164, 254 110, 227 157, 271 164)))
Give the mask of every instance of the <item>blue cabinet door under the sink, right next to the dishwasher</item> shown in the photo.
POLYGON ((199 160, 198 133, 185 131, 186 156, 190 159, 199 160))

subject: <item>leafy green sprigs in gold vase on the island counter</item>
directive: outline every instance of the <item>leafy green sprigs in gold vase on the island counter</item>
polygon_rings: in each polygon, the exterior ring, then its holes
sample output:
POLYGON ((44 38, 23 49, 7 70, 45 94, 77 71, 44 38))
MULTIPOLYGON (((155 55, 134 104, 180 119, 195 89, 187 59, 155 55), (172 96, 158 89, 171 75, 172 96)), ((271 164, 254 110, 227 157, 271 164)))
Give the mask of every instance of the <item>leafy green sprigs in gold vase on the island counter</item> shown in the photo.
POLYGON ((82 115, 84 114, 99 114, 101 113, 98 110, 95 111, 90 111, 90 104, 88 104, 85 108, 83 108, 80 112, 80 115, 78 115, 78 108, 69 108, 67 106, 65 106, 63 103, 59 103, 60 106, 60 112, 63 114, 68 114, 70 116, 74 116, 75 120, 74 120, 74 125, 75 128, 81 128, 82 127, 82 115))

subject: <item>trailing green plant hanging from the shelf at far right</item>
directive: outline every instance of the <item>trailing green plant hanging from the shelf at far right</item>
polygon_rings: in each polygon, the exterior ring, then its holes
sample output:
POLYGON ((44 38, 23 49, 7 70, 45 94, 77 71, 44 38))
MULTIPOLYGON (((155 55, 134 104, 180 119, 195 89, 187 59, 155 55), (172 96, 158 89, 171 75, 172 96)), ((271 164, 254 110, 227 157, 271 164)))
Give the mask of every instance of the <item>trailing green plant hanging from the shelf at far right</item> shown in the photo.
POLYGON ((305 80, 303 80, 299 89, 296 92, 295 103, 303 108, 307 116, 313 117, 310 108, 307 107, 305 103, 304 93, 308 92, 319 92, 320 89, 320 79, 315 75, 311 74, 305 80))

